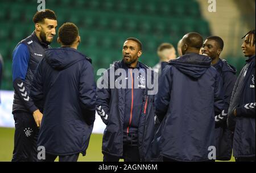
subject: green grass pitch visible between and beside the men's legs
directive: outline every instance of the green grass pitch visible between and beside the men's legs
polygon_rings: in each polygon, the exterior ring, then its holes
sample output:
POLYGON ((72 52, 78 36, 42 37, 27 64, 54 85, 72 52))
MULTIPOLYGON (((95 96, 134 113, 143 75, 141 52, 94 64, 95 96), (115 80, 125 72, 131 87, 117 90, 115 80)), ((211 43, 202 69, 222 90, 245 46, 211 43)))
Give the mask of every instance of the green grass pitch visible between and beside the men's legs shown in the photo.
MULTIPOLYGON (((101 153, 102 134, 92 134, 86 155, 80 154, 80 162, 101 162, 103 155, 101 153)), ((11 161, 14 147, 14 129, 0 128, 0 162, 11 161)), ((56 159, 58 161, 58 158, 56 159)), ((123 161, 122 159, 120 161, 123 161)), ((234 162, 234 158, 230 160, 234 162)))

